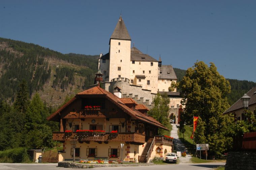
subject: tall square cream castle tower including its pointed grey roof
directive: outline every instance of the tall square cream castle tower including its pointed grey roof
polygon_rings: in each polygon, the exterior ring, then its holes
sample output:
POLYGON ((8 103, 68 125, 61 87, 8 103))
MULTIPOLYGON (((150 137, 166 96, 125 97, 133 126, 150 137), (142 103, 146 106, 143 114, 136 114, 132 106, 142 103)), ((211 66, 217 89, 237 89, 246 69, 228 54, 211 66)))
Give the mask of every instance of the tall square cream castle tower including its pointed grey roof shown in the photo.
POLYGON ((109 40, 109 81, 114 78, 130 78, 131 37, 120 15, 109 40))

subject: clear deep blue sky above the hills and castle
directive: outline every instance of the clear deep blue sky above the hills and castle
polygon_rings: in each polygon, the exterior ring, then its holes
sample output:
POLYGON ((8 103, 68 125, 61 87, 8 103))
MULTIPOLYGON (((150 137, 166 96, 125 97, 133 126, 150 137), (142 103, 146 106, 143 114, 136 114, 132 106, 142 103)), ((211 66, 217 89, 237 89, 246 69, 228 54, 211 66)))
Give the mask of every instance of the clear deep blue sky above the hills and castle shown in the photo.
POLYGON ((0 37, 105 54, 121 10, 135 47, 164 65, 214 62, 226 78, 256 82, 255 0, 1 0, 0 37))

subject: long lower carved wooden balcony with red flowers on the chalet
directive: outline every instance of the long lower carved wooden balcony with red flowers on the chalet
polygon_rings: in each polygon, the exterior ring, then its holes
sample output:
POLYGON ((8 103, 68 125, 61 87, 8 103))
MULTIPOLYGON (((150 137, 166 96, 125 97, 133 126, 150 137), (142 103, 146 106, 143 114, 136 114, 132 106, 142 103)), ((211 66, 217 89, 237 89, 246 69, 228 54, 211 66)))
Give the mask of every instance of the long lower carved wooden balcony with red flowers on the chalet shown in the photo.
POLYGON ((90 132, 53 132, 53 140, 65 141, 70 138, 77 138, 80 141, 123 141, 145 143, 145 135, 136 132, 127 133, 90 133, 90 132))

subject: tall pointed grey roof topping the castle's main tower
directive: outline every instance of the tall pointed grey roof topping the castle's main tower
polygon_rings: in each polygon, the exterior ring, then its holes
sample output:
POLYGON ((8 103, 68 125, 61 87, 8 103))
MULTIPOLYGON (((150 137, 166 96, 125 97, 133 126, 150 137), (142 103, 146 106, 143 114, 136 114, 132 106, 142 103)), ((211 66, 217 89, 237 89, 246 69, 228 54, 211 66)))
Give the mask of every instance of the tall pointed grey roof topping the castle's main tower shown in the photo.
POLYGON ((121 15, 110 39, 131 40, 121 15))

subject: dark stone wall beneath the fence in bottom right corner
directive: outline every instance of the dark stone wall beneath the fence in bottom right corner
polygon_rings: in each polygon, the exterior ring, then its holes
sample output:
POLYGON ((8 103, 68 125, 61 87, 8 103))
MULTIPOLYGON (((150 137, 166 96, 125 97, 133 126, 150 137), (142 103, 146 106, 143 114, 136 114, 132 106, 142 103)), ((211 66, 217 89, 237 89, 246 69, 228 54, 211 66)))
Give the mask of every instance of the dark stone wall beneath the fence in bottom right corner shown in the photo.
POLYGON ((229 152, 225 170, 256 170, 256 152, 229 152))

